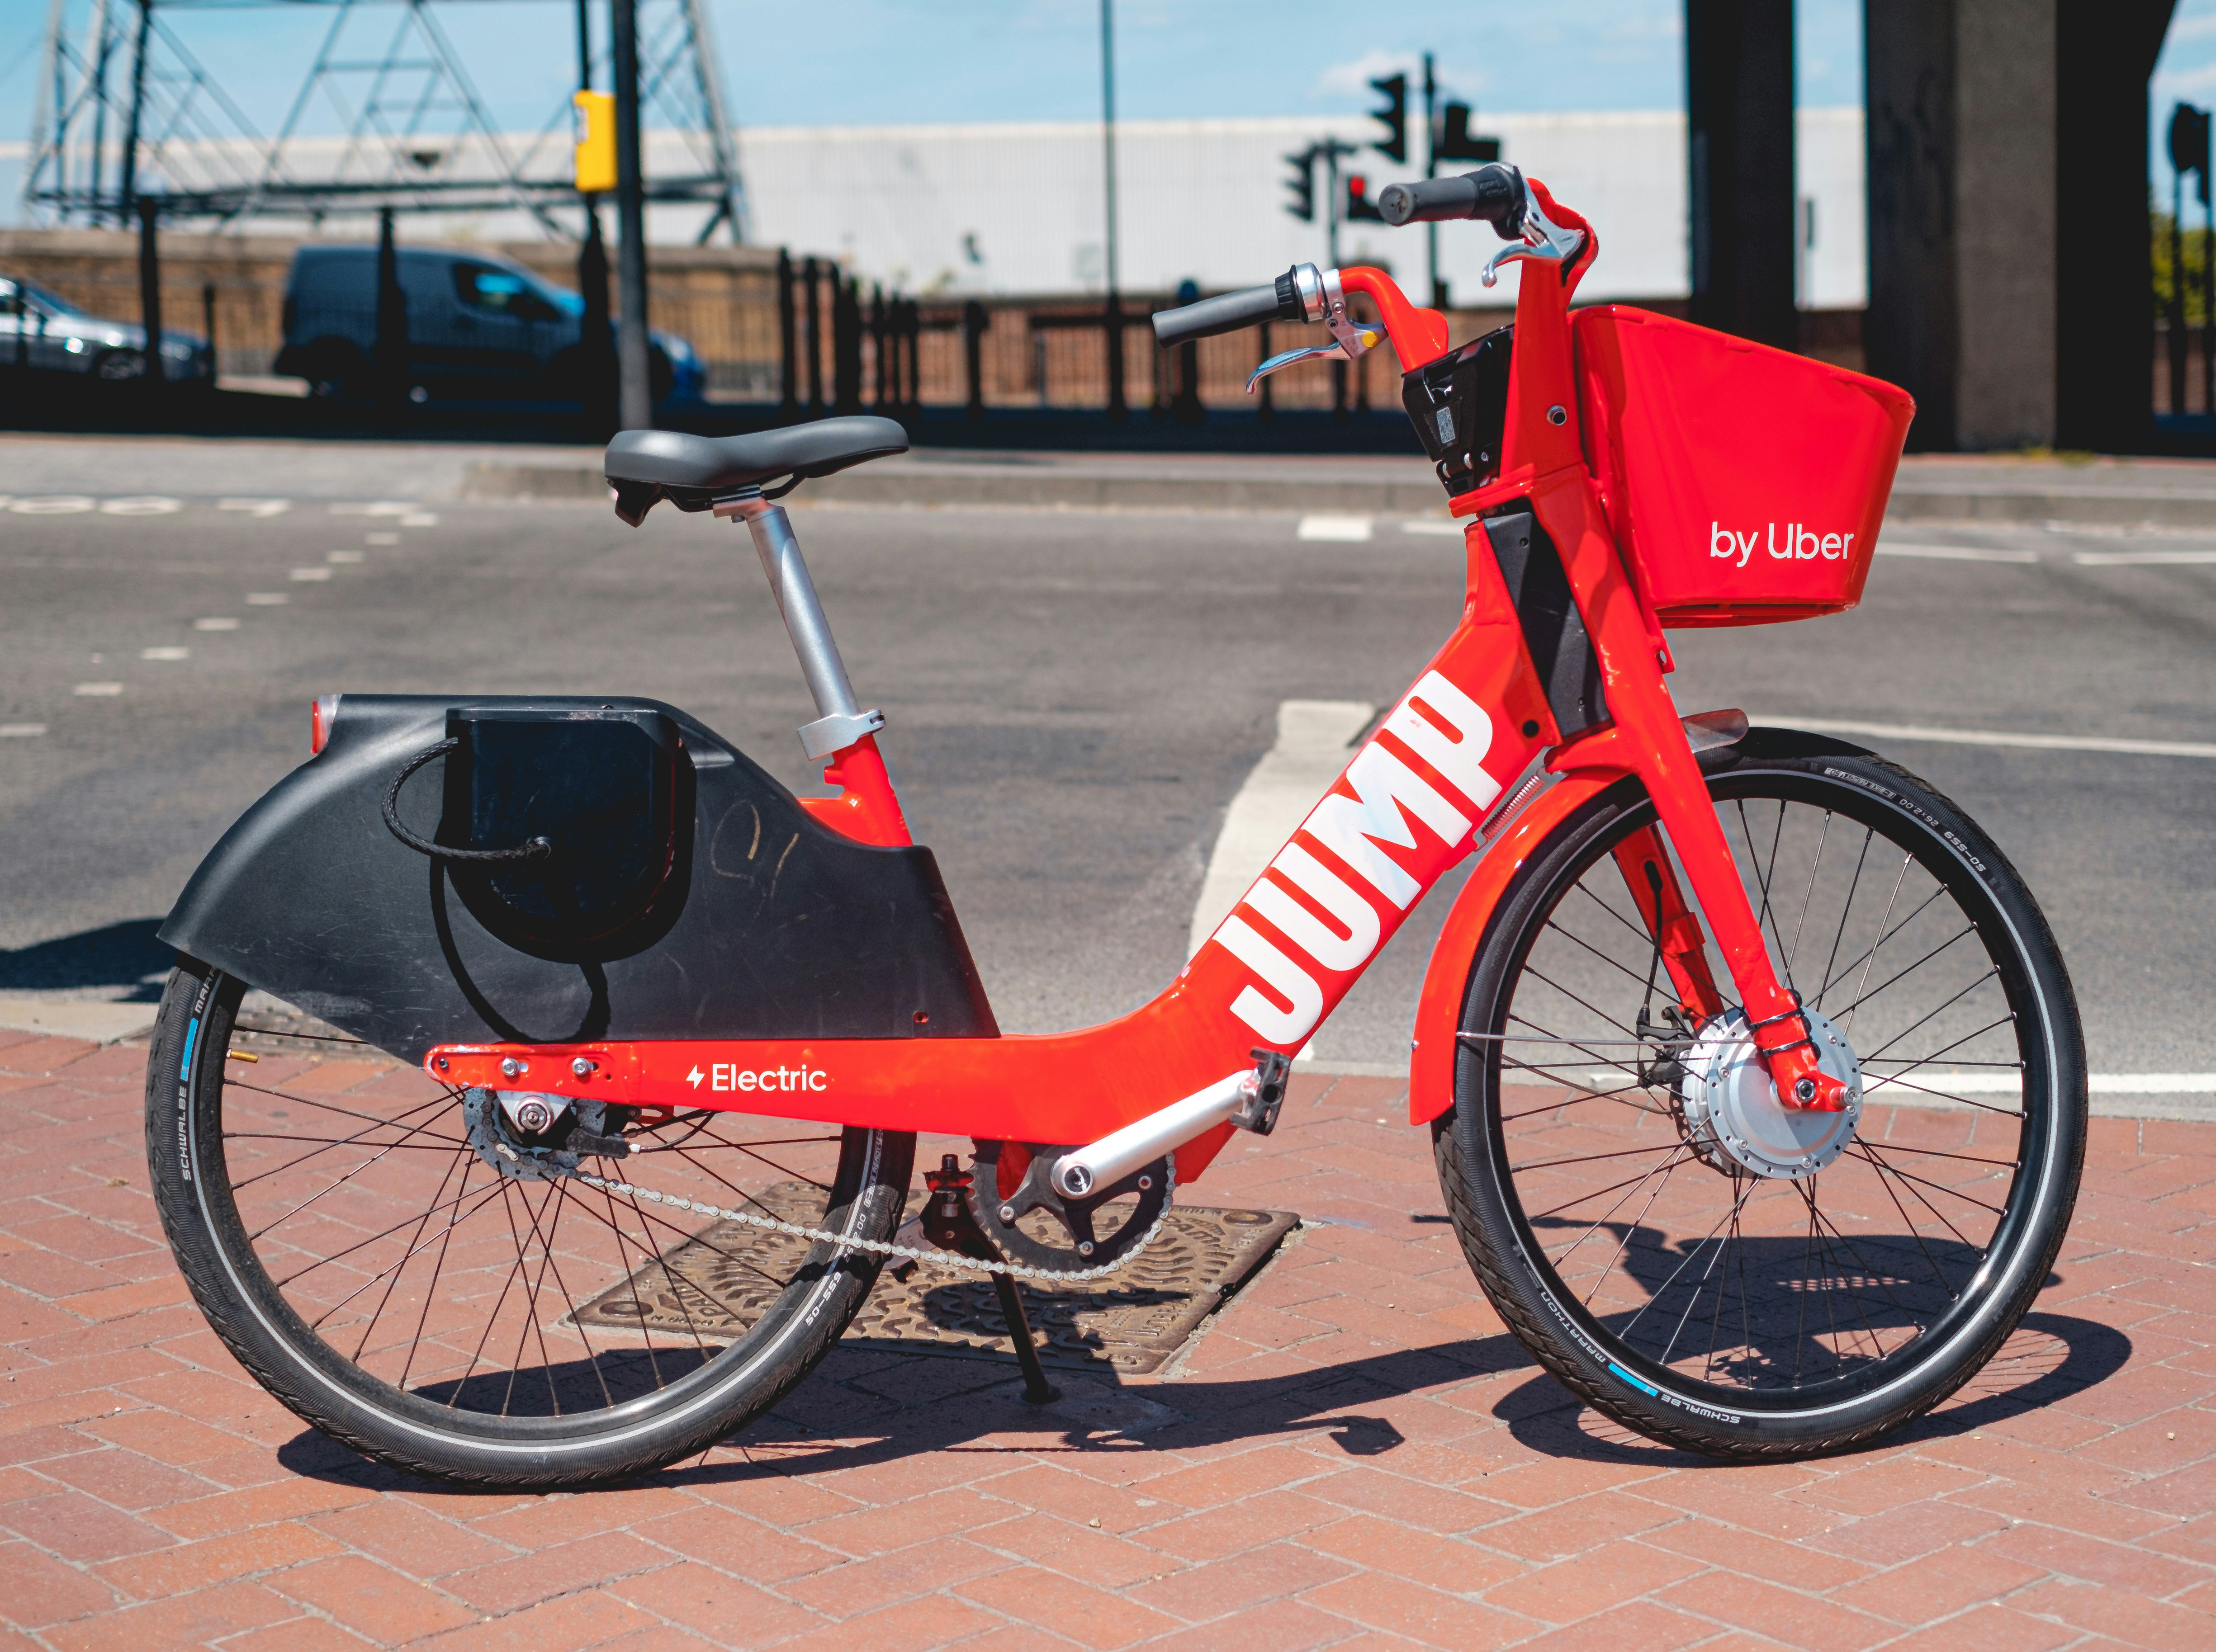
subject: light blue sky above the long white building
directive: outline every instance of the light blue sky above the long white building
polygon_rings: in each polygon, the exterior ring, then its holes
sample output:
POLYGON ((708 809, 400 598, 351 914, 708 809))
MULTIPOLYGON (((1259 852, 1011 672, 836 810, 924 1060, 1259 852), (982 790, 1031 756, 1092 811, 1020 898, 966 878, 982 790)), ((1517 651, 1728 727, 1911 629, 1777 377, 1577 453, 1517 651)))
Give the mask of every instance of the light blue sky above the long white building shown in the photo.
MULTIPOLYGON (((73 0, 80 9, 86 0, 73 0)), ((49 0, 0 0, 0 140, 27 135, 49 0)), ((1097 0, 709 0, 740 124, 1081 120, 1099 109, 1097 0)), ((605 7, 594 7, 605 29, 605 7)), ((321 4, 177 11, 266 131, 321 4), (237 64, 266 64, 239 69, 237 64)), ((394 7, 366 7, 375 29, 394 7)), ((574 73, 565 0, 452 0, 439 18, 505 126, 538 126, 574 73)), ((1124 115, 1307 115, 1369 106, 1363 84, 1432 49, 1480 111, 1660 109, 1684 97, 1682 0, 1119 0, 1124 115)), ((2216 100, 2216 0, 2181 0, 2156 73, 2216 100)), ((1799 0, 1802 104, 1861 100, 1859 0, 1799 0)))

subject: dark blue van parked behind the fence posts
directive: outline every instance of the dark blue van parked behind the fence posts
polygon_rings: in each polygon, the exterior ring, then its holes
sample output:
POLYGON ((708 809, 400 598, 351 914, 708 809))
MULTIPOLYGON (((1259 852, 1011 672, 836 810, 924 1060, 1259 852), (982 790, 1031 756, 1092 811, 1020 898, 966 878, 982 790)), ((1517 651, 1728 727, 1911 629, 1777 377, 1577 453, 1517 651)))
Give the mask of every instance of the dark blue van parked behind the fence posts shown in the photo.
MULTIPOLYGON (((397 252, 408 306, 408 383, 428 396, 576 401, 585 301, 485 252, 397 252)), ((700 359, 654 332, 654 401, 698 401, 700 359)), ((377 248, 304 246, 284 295, 275 370, 319 396, 368 394, 377 359, 377 248)))

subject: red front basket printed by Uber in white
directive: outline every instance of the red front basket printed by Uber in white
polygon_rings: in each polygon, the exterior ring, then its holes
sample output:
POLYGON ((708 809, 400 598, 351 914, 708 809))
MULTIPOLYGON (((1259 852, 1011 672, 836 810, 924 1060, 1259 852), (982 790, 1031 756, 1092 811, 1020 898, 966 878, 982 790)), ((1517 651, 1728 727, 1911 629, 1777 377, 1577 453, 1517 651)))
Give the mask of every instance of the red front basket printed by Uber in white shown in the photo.
POLYGON ((1768 624, 1861 600, 1904 390, 1686 321, 1571 317, 1593 474, 1662 624, 1768 624))

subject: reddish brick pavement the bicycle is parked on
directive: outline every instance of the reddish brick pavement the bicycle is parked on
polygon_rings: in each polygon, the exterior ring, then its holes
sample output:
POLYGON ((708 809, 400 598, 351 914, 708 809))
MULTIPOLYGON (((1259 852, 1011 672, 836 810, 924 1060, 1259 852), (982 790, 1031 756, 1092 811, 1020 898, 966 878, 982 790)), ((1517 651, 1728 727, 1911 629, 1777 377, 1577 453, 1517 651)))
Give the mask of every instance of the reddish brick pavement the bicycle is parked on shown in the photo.
POLYGON ((1163 1382, 835 1353, 620 1490, 456 1495, 304 1431, 184 1298, 144 1052, 0 1034, 0 1652, 434 1645, 2216 1645, 2216 1125, 2094 1123, 2056 1282, 1895 1442, 1726 1468, 1507 1338, 1376 1078, 1197 1191, 1310 1227, 1163 1382))

